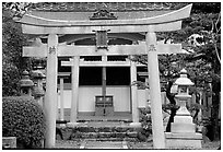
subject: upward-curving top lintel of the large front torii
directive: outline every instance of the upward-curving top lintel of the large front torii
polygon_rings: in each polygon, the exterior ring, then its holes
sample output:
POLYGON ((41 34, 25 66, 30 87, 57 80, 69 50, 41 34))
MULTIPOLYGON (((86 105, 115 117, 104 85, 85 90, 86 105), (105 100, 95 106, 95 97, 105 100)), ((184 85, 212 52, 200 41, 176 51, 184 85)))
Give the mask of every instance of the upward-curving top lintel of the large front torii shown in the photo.
POLYGON ((84 34, 102 28, 110 30, 110 33, 165 32, 180 30, 181 20, 189 17, 191 7, 192 4, 188 4, 166 14, 132 20, 62 21, 25 14, 16 22, 22 23, 23 32, 26 34, 84 34))

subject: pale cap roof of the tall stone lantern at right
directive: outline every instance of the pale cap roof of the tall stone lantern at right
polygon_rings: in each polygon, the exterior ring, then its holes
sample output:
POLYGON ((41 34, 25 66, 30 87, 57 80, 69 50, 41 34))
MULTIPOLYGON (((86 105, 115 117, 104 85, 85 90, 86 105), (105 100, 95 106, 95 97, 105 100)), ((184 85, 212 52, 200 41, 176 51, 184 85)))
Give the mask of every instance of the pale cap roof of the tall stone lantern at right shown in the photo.
POLYGON ((179 78, 175 81, 176 85, 193 85, 190 79, 187 78, 187 70, 183 69, 179 73, 179 78))

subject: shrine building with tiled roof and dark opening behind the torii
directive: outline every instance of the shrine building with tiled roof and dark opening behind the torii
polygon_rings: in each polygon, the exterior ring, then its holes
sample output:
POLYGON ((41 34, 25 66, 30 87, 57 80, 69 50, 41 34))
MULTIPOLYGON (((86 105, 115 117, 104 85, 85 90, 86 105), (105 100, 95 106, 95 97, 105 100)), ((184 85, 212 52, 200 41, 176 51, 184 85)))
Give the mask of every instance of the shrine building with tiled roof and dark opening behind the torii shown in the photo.
MULTIPOLYGON (((176 8, 176 7, 175 7, 176 8)), ((37 19, 51 21, 99 21, 107 20, 134 20, 144 17, 157 17, 175 11, 171 3, 139 3, 139 2, 75 2, 75 3, 38 3, 32 9, 31 15, 37 19)), ((46 35, 35 34, 32 38, 39 45, 47 44, 46 35)), ((35 44, 34 42, 34 44, 35 44)), ((95 31, 82 34, 59 34, 59 45, 75 45, 107 49, 117 45, 132 45, 145 43, 144 32, 124 31, 114 33, 109 30, 95 31)), ((128 49, 128 48, 127 48, 128 49)), ((75 51, 75 50, 73 50, 75 51)), ((162 52, 161 52, 162 54, 162 52)), ((63 83, 63 108, 70 113, 71 108, 71 67, 62 63, 71 57, 58 57, 58 108, 60 108, 60 83, 63 83), (63 80, 61 80, 63 79, 63 80), (62 82, 63 81, 63 82, 62 82)), ((137 80, 148 82, 148 69, 137 63, 137 72, 131 73, 130 56, 80 56, 79 63, 79 100, 78 115, 128 115, 132 112, 131 84, 132 75, 137 80), (111 102, 111 109, 95 112, 96 102, 111 102), (104 101, 106 102, 106 101, 104 101), (111 110, 111 112, 110 112, 111 110), (101 114, 99 114, 101 113, 101 114), (113 114, 109 114, 113 113, 113 114)), ((138 89, 138 106, 148 105, 149 90, 138 89)), ((163 98, 164 100, 164 98, 163 98)), ((108 105, 109 106, 109 105, 108 105)), ((68 119, 68 118, 66 118, 68 119)))

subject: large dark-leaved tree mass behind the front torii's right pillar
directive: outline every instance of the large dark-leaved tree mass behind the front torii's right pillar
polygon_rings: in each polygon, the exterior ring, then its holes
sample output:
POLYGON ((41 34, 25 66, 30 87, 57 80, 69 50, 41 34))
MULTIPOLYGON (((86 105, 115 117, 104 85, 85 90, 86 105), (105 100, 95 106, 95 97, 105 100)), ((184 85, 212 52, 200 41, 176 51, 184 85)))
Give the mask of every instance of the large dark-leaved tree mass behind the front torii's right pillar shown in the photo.
MULTIPOLYGON (((185 5, 185 3, 179 3, 185 5)), ((212 125, 213 139, 219 133, 219 92, 221 91, 221 3, 193 3, 190 17, 183 21, 183 28, 172 33, 157 33, 157 40, 164 39, 172 43, 181 43, 187 55, 162 55, 159 56, 159 68, 162 81, 173 81, 181 68, 186 68, 189 79, 196 87, 210 90, 212 84, 213 107, 212 125), (191 43, 191 35, 199 35, 191 43)), ((134 61, 146 65, 146 56, 134 57, 134 61)), ((220 135, 220 133, 219 133, 220 135)))

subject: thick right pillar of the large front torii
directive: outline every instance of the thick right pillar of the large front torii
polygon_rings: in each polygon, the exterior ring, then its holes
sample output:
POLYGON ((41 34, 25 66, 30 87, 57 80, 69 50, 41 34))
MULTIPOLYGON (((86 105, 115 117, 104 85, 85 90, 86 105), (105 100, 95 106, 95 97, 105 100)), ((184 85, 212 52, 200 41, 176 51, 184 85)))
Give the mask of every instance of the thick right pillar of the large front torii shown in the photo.
POLYGON ((146 33, 145 36, 148 50, 148 70, 150 82, 150 97, 151 97, 151 115, 152 115, 152 131, 153 131, 153 147, 155 149, 165 149, 165 137, 163 128, 162 101, 160 87, 160 71, 155 33, 146 33))

